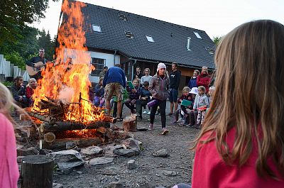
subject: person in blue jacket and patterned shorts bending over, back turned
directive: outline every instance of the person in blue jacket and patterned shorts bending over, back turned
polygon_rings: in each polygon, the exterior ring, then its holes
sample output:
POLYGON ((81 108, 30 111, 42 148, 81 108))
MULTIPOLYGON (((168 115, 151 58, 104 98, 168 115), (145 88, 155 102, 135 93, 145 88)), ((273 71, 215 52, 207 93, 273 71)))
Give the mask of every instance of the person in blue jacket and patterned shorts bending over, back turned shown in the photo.
MULTIPOLYGON (((111 97, 117 96, 117 117, 121 117, 121 101, 123 99, 124 88, 126 87, 126 79, 124 70, 120 68, 119 64, 110 67, 104 75, 104 99, 106 101, 107 114, 111 111, 111 97)), ((121 121, 117 118, 117 121, 121 121)))

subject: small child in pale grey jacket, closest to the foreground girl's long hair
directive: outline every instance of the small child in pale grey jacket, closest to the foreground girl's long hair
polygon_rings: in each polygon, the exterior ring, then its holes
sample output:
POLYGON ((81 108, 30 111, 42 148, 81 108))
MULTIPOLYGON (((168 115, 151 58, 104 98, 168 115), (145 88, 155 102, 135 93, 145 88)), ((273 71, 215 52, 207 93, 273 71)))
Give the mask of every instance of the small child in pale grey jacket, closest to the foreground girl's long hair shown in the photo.
POLYGON ((195 104, 193 105, 193 109, 198 111, 197 114, 197 121, 196 121, 196 128, 200 128, 204 121, 205 111, 207 106, 209 105, 208 96, 205 94, 206 89, 204 86, 198 87, 198 94, 195 97, 195 104))

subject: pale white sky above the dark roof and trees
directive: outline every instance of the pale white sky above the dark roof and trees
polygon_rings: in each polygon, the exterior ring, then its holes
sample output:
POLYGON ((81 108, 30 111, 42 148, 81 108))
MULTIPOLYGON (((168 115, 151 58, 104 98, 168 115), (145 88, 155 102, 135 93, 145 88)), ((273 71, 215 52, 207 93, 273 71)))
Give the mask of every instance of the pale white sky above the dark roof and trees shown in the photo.
MULTIPOLYGON (((271 19, 284 24, 283 0, 81 0, 119 11, 175 23, 205 31, 210 38, 226 35, 236 26, 256 19, 271 19)), ((35 28, 56 35, 62 0, 50 0, 50 8, 35 28)))

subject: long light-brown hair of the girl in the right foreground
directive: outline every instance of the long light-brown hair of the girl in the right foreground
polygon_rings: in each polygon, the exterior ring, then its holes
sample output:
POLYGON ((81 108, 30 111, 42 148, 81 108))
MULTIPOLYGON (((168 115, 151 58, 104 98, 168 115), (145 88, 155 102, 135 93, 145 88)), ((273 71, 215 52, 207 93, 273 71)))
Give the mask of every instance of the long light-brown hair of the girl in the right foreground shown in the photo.
POLYGON ((276 178, 267 162, 273 157, 283 177, 284 26, 270 20, 242 24, 222 38, 215 62, 216 89, 192 149, 214 141, 226 164, 238 162, 241 167, 249 159, 256 138, 258 175, 276 178), (231 128, 236 129, 233 148, 226 143, 231 128), (201 141, 208 133, 209 138, 201 141))

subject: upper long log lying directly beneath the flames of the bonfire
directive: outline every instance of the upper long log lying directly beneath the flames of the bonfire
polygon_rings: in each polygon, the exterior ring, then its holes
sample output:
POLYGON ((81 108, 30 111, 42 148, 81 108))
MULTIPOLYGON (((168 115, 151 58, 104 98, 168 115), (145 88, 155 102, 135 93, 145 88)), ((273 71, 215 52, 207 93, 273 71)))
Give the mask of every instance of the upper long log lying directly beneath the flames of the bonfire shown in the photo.
MULTIPOLYGON (((43 123, 44 124, 44 123, 43 123)), ((43 129, 41 132, 62 132, 62 131, 73 131, 73 130, 82 130, 82 129, 96 129, 96 128, 109 128, 110 124, 108 122, 104 121, 94 121, 92 123, 89 123, 87 125, 84 125, 80 122, 70 122, 70 121, 59 121, 50 123, 50 124, 44 124, 43 129)))

